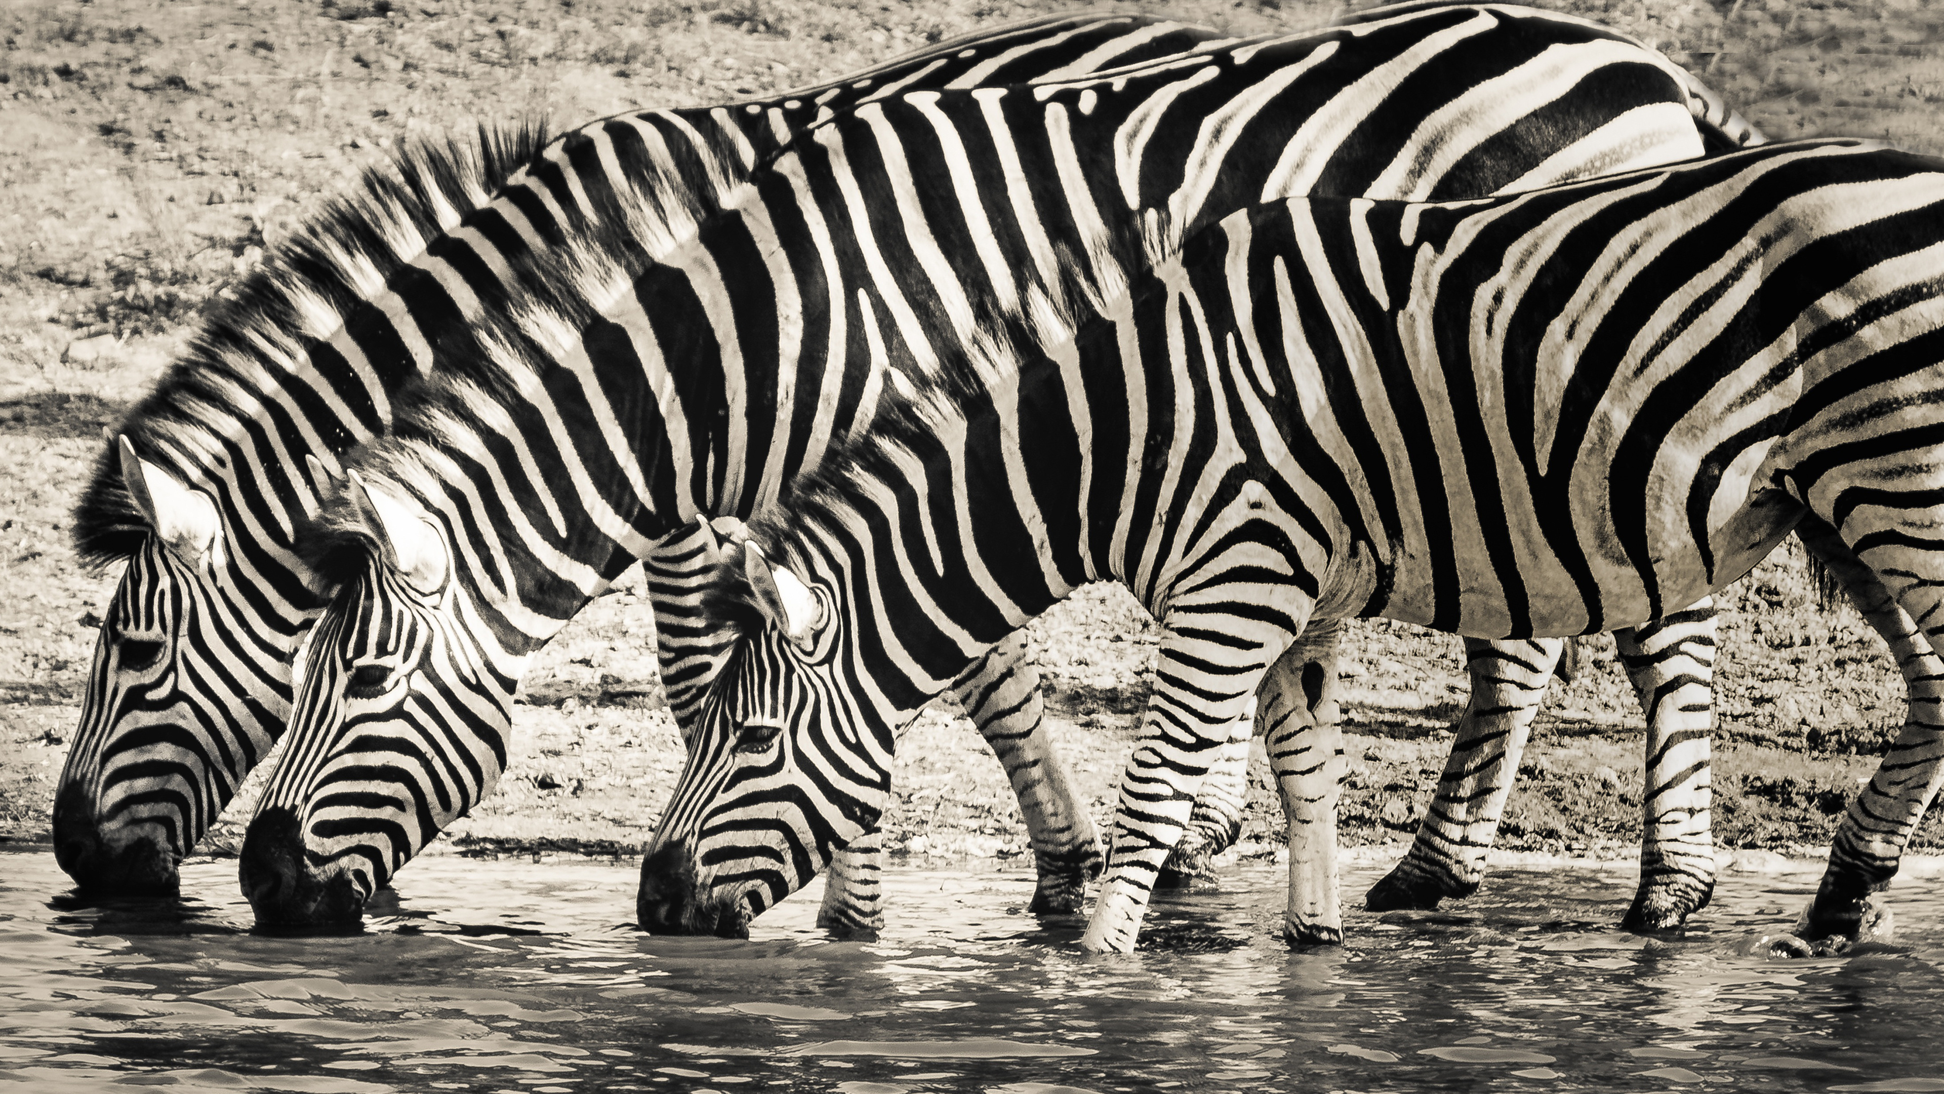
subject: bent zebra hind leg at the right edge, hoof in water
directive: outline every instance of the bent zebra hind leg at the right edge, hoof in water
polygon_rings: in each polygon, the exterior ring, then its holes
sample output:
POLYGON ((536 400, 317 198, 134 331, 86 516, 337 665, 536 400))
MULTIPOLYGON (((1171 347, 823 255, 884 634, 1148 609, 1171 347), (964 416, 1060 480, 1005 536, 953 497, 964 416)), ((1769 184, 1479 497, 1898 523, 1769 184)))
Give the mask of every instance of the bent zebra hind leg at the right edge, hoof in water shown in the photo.
POLYGON ((1884 637, 1909 691, 1903 730, 1843 814, 1829 845, 1829 866, 1796 934, 1810 940, 1888 938, 1890 909, 1872 897, 1890 888, 1903 847, 1944 784, 1944 658, 1876 576, 1882 570, 1858 559, 1833 528, 1804 518, 1796 535, 1884 637))

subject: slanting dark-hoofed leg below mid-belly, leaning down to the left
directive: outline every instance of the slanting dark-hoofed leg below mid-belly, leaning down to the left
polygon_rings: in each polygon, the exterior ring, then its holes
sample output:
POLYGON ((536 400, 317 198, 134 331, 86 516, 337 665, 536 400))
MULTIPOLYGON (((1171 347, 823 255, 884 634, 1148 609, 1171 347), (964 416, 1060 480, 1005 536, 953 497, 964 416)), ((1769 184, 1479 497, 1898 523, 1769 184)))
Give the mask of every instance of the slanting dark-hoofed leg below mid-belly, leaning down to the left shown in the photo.
POLYGON ((1371 911, 1433 909, 1444 897, 1477 892, 1561 646, 1559 638, 1466 638, 1472 703, 1458 720, 1452 755, 1417 839, 1365 895, 1371 911))

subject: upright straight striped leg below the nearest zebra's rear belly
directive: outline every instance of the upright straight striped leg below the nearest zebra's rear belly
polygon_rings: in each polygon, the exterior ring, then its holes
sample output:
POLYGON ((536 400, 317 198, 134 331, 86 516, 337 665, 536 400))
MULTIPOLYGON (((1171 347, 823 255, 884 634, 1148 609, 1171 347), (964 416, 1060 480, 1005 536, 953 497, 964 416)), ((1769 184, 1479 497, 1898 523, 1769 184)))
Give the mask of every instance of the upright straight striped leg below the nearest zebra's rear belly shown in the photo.
POLYGON ((1680 930, 1715 893, 1709 823, 1715 602, 1701 600, 1656 623, 1615 631, 1614 642, 1647 712, 1641 888, 1621 927, 1680 930))

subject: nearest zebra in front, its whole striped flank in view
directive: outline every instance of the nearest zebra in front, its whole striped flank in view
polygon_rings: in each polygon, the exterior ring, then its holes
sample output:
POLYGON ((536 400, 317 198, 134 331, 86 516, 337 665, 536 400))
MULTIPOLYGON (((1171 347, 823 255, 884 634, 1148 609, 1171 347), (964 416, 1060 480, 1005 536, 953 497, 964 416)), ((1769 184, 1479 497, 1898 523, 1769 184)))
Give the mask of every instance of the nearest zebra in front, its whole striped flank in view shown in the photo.
MULTIPOLYGON (((1108 574, 1164 637, 1093 952, 1133 946, 1223 728, 1310 619, 1592 633, 1802 528, 1866 609, 1944 644, 1911 623, 1944 611, 1944 160, 1771 144, 1503 199, 1246 206, 1159 261, 1096 245, 1141 273, 1011 315, 752 524, 719 590, 745 638, 643 927, 746 930, 883 808, 892 730, 956 664, 1108 574)), ((1267 744, 1295 864, 1341 744, 1267 744)), ((1888 874, 1855 866, 1831 858, 1806 929, 1868 929, 1888 874)), ((1287 936, 1341 938, 1334 897, 1293 868, 1287 936)))

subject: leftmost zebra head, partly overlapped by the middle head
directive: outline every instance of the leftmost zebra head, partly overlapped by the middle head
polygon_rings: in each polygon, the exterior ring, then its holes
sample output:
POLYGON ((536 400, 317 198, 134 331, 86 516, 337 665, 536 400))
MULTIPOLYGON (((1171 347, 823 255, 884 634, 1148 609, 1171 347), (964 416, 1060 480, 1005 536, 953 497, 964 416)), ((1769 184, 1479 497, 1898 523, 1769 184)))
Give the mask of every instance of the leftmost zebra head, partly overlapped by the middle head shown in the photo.
POLYGON ((239 596, 251 582, 208 492, 136 456, 126 436, 113 454, 126 570, 54 794, 54 858, 84 890, 173 892, 177 862, 282 730, 301 613, 239 596))

